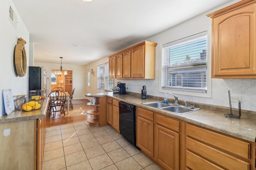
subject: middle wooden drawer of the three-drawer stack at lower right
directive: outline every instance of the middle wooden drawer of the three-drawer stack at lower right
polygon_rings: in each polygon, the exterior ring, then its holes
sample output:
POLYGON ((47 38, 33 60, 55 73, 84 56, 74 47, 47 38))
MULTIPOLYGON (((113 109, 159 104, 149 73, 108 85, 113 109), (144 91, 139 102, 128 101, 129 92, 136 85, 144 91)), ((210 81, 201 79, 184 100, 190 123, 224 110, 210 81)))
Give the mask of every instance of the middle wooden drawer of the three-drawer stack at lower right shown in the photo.
MULTIPOLYGON (((228 143, 226 143, 228 145, 228 143)), ((249 170, 250 164, 234 156, 230 156, 220 150, 200 143, 194 139, 186 137, 186 147, 197 155, 209 160, 210 162, 230 170, 249 170)))

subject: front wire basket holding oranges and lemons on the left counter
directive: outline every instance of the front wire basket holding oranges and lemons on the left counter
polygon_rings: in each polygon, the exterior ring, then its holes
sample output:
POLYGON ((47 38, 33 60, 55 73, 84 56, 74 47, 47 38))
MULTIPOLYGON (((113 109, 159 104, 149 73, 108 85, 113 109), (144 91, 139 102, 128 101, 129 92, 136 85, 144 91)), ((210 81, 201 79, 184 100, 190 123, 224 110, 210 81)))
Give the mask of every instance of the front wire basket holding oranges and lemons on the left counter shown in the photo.
POLYGON ((13 96, 14 106, 16 110, 34 111, 41 109, 44 103, 44 98, 42 98, 41 96, 28 96, 29 95, 13 96))

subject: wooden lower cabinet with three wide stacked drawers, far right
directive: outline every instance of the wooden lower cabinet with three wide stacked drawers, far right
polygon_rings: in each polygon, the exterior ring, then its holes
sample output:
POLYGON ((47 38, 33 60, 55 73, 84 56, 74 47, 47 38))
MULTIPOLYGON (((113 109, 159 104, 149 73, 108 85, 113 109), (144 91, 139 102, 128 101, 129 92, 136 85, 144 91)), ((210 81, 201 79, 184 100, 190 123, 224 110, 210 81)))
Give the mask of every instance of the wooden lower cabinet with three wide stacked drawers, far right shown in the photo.
POLYGON ((188 169, 255 170, 255 143, 228 137, 195 125, 186 125, 188 169))

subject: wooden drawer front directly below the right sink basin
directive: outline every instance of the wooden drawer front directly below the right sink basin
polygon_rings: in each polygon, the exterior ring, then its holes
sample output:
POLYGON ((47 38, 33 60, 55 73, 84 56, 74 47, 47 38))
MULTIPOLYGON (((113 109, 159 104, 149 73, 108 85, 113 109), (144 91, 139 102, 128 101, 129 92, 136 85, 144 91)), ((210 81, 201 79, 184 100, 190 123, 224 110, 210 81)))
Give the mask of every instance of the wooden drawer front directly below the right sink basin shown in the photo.
POLYGON ((156 124, 162 125, 169 129, 179 132, 180 131, 180 122, 173 120, 171 118, 156 114, 156 124))

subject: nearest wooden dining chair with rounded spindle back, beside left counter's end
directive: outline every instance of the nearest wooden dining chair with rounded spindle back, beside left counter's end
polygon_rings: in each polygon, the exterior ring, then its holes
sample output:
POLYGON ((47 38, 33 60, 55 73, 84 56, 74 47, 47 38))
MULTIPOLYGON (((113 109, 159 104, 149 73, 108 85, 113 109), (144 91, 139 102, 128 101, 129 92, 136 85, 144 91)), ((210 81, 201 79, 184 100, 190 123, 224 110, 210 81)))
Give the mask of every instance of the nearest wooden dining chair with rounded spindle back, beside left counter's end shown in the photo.
POLYGON ((61 90, 54 90, 48 95, 49 99, 49 116, 56 114, 57 111, 60 111, 60 114, 65 115, 65 104, 66 104, 66 94, 61 90), (57 107, 60 107, 60 110, 57 110, 57 107))

